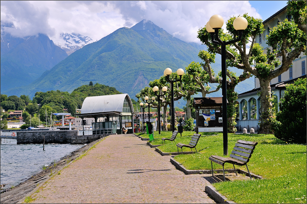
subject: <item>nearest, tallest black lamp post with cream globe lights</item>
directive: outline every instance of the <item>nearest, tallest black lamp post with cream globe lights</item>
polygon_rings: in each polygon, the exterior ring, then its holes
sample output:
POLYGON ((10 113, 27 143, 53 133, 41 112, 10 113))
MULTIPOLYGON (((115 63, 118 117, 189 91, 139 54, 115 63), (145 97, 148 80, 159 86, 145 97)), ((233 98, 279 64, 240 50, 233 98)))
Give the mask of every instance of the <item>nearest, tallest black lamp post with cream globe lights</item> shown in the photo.
POLYGON ((206 30, 211 34, 212 43, 221 46, 222 55, 222 105, 223 105, 223 152, 228 155, 228 135, 227 135, 227 83, 226 83, 226 45, 239 42, 242 39, 243 31, 247 28, 248 22, 244 17, 237 17, 233 21, 233 27, 239 32, 239 38, 231 41, 222 41, 219 38, 219 29, 224 24, 223 17, 220 15, 213 15, 206 24, 206 30))

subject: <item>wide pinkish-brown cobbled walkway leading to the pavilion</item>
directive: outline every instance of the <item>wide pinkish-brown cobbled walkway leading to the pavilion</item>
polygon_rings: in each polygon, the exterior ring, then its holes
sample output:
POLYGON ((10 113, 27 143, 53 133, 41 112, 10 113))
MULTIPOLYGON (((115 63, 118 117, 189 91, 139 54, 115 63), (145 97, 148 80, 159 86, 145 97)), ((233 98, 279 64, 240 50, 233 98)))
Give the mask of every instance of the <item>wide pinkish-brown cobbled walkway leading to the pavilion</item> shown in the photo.
POLYGON ((134 135, 110 135, 50 179, 33 203, 215 203, 204 174, 185 175, 134 135))

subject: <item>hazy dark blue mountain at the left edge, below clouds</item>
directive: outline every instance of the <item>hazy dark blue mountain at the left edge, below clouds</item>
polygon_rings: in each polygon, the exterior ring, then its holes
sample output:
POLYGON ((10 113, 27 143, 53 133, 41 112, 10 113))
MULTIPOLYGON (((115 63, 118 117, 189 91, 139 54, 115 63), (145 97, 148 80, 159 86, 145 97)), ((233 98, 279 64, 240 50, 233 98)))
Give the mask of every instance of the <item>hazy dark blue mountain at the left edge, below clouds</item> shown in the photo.
POLYGON ((44 34, 18 38, 3 32, 1 22, 1 92, 28 85, 68 55, 44 34))

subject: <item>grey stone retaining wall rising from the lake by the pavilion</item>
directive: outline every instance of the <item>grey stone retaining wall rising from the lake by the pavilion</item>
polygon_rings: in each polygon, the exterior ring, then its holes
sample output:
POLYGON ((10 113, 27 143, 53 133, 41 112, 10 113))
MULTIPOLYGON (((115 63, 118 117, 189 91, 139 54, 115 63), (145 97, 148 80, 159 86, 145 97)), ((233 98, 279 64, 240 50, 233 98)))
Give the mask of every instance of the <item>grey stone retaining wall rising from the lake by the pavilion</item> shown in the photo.
POLYGON ((77 130, 56 131, 27 131, 16 132, 17 144, 42 144, 45 135, 45 144, 88 144, 102 137, 113 134, 78 135, 77 130))

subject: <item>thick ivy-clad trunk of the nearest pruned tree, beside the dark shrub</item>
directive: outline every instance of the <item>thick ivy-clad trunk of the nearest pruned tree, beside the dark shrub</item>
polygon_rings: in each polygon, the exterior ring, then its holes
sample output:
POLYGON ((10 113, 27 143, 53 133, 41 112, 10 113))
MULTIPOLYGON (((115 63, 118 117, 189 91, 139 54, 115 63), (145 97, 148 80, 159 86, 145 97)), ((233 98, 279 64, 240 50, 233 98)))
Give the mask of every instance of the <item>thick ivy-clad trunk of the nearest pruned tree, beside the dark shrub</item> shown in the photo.
POLYGON ((271 119, 272 115, 272 101, 271 101, 271 86, 269 79, 258 78, 260 82, 260 104, 261 104, 261 120, 259 132, 262 134, 270 134, 273 133, 271 129, 271 119))

